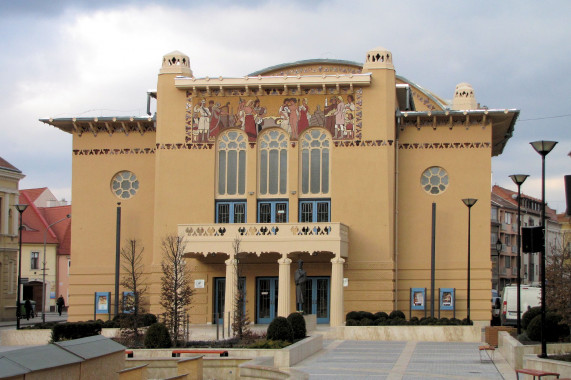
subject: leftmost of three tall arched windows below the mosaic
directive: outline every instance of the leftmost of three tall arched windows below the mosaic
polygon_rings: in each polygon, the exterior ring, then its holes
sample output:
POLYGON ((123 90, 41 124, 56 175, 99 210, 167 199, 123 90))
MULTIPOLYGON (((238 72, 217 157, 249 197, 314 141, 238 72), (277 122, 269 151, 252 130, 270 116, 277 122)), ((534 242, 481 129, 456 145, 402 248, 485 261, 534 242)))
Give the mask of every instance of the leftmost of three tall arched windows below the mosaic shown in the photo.
POLYGON ((246 136, 229 131, 218 139, 218 194, 246 193, 246 136))

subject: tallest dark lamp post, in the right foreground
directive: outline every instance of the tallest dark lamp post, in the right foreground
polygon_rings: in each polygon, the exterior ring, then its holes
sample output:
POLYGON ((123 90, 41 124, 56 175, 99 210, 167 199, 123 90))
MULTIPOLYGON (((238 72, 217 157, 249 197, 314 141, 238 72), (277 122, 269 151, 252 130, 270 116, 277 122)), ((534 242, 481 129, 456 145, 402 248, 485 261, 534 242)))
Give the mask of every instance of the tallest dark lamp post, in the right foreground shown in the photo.
POLYGON ((545 156, 557 144, 557 141, 534 141, 530 143, 533 149, 541 155, 541 229, 543 230, 543 245, 541 248, 541 262, 539 263, 541 274, 541 354, 540 358, 547 357, 547 342, 545 340, 545 156))

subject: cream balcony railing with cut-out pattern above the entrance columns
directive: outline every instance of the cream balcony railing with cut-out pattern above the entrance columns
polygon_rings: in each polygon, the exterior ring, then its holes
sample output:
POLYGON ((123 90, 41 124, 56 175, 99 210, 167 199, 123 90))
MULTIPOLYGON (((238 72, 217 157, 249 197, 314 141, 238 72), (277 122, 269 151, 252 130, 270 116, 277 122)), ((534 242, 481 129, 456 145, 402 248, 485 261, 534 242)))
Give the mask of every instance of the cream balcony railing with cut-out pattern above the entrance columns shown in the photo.
POLYGON ((231 253, 240 241, 241 252, 331 252, 348 256, 349 227, 342 223, 179 224, 189 253, 231 253))

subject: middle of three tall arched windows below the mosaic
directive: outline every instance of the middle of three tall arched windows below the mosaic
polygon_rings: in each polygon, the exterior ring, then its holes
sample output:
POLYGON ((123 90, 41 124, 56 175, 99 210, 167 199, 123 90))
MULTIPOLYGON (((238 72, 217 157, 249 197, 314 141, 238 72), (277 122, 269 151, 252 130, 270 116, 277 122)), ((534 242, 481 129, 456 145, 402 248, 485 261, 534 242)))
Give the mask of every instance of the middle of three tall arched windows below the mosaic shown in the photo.
POLYGON ((273 129, 259 139, 260 195, 287 193, 288 137, 284 131, 273 129))

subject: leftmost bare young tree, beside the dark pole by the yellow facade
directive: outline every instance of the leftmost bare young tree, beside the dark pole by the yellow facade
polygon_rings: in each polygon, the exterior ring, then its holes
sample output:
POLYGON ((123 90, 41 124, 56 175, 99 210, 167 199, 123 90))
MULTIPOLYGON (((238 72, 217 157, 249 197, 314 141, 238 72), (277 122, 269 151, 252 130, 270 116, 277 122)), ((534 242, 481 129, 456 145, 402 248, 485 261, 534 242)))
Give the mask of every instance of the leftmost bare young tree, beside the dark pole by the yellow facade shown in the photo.
POLYGON ((141 305, 143 294, 147 291, 145 284, 145 272, 143 265, 144 247, 136 239, 129 239, 125 247, 121 249, 121 286, 129 292, 123 298, 123 311, 130 313, 129 318, 121 318, 121 328, 124 338, 133 339, 134 345, 140 341, 139 315, 144 312, 141 305))

